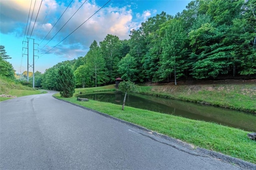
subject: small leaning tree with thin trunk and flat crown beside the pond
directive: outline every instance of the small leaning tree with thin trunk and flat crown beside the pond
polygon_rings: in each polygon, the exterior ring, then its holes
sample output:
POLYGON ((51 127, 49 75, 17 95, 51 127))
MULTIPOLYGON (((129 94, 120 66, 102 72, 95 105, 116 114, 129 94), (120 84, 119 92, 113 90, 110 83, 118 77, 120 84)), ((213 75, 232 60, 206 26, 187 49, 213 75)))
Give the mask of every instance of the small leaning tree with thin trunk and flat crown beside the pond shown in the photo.
POLYGON ((134 93, 136 93, 136 92, 139 91, 139 86, 135 85, 134 83, 132 83, 129 80, 129 81, 122 81, 121 83, 119 83, 118 89, 125 93, 124 101, 123 101, 123 106, 122 106, 122 110, 124 110, 124 104, 125 104, 125 99, 126 99, 127 92, 134 92, 134 93))

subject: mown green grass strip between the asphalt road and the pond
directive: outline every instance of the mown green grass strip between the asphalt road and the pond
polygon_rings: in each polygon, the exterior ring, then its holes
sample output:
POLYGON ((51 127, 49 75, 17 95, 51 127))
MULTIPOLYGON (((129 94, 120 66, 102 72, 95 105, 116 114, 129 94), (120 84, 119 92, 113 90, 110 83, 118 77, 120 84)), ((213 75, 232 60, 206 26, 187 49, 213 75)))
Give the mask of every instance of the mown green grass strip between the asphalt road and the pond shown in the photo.
POLYGON ((76 97, 57 98, 106 113, 113 117, 146 127, 150 130, 180 139, 195 147, 206 148, 256 163, 256 142, 247 137, 244 130, 224 127, 215 123, 195 121, 132 107, 98 101, 81 102, 76 97))

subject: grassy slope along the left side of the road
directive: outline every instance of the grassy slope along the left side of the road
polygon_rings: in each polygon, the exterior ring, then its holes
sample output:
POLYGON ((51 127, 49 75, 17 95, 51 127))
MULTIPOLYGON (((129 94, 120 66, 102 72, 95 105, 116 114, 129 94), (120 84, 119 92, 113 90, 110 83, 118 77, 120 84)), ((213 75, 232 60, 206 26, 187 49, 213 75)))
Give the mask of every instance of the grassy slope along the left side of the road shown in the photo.
MULTIPOLYGON (((12 79, 8 79, 2 76, 0 77, 0 94, 21 97, 26 95, 36 95, 40 93, 41 93, 40 91, 34 90, 31 87, 21 85, 20 83, 12 79)), ((8 99, 11 99, 11 98, 0 97, 0 101, 4 101, 8 99)))

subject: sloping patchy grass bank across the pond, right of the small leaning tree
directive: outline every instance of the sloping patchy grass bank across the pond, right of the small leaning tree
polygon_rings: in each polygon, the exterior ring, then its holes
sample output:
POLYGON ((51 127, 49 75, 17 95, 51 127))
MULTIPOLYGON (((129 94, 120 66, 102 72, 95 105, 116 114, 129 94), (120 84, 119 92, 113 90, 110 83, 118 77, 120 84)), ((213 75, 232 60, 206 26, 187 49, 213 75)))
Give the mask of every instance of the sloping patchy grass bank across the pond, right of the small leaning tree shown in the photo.
POLYGON ((256 85, 144 86, 141 93, 256 113, 256 85))

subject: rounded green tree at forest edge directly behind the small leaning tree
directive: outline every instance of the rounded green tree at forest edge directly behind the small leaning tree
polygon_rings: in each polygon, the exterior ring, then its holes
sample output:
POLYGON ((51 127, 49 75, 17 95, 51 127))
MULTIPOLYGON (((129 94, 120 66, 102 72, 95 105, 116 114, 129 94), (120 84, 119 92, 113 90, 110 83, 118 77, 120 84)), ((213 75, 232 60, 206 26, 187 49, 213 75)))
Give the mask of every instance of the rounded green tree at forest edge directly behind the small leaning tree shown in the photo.
POLYGON ((118 65, 118 73, 122 75, 122 79, 130 81, 135 81, 137 79, 137 64, 134 57, 132 57, 130 54, 127 54, 124 58, 122 58, 118 65))

